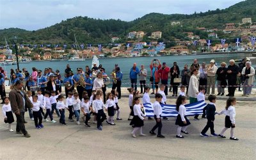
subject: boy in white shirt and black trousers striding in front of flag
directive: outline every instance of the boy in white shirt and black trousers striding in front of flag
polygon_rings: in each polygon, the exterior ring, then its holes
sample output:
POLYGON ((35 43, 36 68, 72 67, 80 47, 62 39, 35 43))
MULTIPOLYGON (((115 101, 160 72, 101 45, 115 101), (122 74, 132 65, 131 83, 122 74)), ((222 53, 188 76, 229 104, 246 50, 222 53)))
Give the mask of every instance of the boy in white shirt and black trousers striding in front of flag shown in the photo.
POLYGON ((162 107, 159 102, 161 102, 163 96, 159 93, 156 93, 156 102, 153 104, 154 108, 154 118, 156 120, 156 125, 151 129, 150 134, 156 134, 154 131, 158 128, 157 137, 164 138, 163 134, 161 134, 162 130, 162 122, 161 122, 161 114, 162 114, 162 107))

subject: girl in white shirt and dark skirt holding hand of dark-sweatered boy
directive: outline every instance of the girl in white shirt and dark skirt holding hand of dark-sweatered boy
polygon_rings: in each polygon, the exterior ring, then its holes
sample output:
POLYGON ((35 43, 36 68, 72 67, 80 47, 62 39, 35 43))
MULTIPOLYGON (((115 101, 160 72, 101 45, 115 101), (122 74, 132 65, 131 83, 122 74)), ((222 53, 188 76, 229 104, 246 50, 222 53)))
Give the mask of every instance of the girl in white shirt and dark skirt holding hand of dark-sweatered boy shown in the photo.
POLYGON ((236 116, 236 109, 234 108, 236 106, 236 98, 235 97, 229 97, 227 99, 227 105, 223 111, 218 113, 218 115, 225 114, 225 127, 222 129, 222 131, 219 134, 219 137, 226 138, 223 134, 227 129, 231 127, 230 130, 230 140, 238 140, 238 138, 234 137, 234 129, 235 129, 235 116, 236 116))

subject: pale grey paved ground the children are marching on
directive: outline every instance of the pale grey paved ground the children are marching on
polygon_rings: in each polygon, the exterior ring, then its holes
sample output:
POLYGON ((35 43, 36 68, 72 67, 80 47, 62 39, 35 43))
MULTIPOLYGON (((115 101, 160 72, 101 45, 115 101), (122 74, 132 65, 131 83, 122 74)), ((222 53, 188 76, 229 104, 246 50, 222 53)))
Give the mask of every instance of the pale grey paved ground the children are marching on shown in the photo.
MULTIPOLYGON (((174 99, 167 102, 175 104, 174 99)), ((149 135, 148 131, 155 124, 153 120, 145 121, 143 132, 147 137, 132 138, 127 120, 128 99, 124 97, 118 104, 123 120, 115 120, 115 126, 104 122, 103 131, 97 131, 92 122, 90 128, 75 122, 67 122, 67 126, 44 122, 45 128, 38 130, 26 113, 26 129, 31 138, 9 132, 1 114, 0 159, 254 159, 256 156, 255 102, 237 102, 234 135, 239 141, 229 140, 230 130, 225 132, 226 139, 200 137, 207 120, 194 121, 192 117, 189 134, 184 135, 184 139, 175 138, 175 118, 163 121, 164 139, 149 135)), ((218 100, 216 104, 217 111, 225 107, 225 101, 218 100)), ((67 115, 66 112, 66 120, 67 115)), ((224 115, 216 115, 217 134, 223 128, 224 118, 224 115)), ((58 121, 56 115, 54 119, 58 121)), ((14 130, 15 125, 16 122, 12 125, 14 130)))

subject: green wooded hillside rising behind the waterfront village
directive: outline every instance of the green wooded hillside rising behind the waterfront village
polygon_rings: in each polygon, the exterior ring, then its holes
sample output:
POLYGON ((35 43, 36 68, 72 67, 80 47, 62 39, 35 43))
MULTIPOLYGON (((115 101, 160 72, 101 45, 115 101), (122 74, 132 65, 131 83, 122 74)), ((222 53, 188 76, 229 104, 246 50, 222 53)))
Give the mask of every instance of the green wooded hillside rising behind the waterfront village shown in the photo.
MULTIPOLYGON (((48 28, 36 31, 26 31, 24 29, 10 28, 0 29, 0 44, 3 45, 4 36, 11 39, 14 35, 19 38, 19 43, 29 44, 72 44, 74 34, 79 43, 104 43, 111 42, 111 37, 118 36, 119 42, 126 42, 129 31, 144 31, 146 36, 143 41, 150 41, 153 31, 162 31, 163 38, 159 41, 172 41, 174 38, 186 40, 184 32, 193 31, 201 38, 207 38, 207 33, 199 31, 197 27, 223 29, 225 23, 241 22, 241 19, 251 17, 256 22, 256 0, 247 0, 237 3, 229 8, 213 10, 208 12, 193 13, 191 15, 161 13, 149 13, 139 19, 125 22, 122 20, 100 20, 89 17, 74 17, 62 20, 48 28), (172 21, 181 22, 181 26, 172 26, 172 21)), ((223 35, 223 33, 220 33, 223 35)))

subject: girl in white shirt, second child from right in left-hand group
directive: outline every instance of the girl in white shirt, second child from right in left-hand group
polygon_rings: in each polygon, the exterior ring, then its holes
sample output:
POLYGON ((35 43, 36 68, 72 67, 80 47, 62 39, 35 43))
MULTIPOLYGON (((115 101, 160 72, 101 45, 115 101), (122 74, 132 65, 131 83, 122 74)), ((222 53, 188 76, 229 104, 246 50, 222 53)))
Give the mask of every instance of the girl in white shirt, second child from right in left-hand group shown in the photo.
POLYGON ((115 104, 115 99, 112 95, 112 93, 108 93, 107 95, 108 100, 106 101, 106 108, 108 108, 108 120, 106 122, 109 125, 116 125, 114 124, 114 115, 115 115, 115 109, 116 109, 116 104, 115 104))

